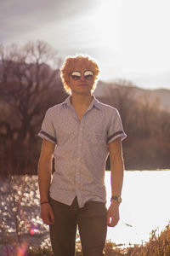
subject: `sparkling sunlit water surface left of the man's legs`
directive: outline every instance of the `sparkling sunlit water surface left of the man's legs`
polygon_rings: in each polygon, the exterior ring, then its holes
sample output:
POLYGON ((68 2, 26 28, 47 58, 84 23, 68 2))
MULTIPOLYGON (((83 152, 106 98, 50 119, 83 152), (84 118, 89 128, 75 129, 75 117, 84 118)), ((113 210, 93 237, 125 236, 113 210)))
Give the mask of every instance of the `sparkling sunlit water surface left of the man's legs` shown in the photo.
POLYGON ((0 255, 13 255, 14 247, 16 255, 25 255, 27 247, 50 246, 48 225, 40 218, 37 176, 0 181, 0 214, 0 255))

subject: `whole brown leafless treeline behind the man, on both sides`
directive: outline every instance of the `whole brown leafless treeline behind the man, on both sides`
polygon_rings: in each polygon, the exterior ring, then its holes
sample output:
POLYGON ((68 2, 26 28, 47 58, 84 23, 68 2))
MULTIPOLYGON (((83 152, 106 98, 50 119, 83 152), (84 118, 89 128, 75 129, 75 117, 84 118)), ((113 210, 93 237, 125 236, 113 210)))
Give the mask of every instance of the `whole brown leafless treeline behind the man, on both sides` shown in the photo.
MULTIPOLYGON (((41 41, 23 47, 0 46, 1 175, 37 173, 41 148, 37 132, 44 113, 67 97, 59 78, 60 63, 59 54, 41 41)), ((133 90, 127 81, 117 81, 107 84, 98 97, 121 113, 127 133, 123 142, 126 169, 168 168, 170 113, 147 96, 137 99, 133 90)))

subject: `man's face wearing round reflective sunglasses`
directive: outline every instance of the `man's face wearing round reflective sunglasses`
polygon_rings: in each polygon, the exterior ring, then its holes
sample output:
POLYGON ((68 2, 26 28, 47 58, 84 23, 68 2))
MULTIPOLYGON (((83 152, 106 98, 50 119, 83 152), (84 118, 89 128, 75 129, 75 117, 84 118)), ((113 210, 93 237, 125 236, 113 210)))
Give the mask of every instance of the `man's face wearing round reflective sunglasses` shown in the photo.
POLYGON ((91 94, 94 85, 94 72, 89 67, 88 61, 77 61, 71 68, 68 85, 72 94, 91 94))

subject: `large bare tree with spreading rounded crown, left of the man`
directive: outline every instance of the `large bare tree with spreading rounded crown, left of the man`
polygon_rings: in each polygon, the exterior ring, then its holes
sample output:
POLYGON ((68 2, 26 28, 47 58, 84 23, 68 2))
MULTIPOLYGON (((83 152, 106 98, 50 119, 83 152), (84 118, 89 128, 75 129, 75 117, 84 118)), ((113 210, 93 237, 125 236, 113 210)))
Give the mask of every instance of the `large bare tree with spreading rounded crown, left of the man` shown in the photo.
POLYGON ((37 41, 23 47, 1 45, 0 58, 0 108, 6 107, 7 114, 1 116, 1 137, 15 142, 33 141, 44 109, 59 101, 58 53, 37 41))

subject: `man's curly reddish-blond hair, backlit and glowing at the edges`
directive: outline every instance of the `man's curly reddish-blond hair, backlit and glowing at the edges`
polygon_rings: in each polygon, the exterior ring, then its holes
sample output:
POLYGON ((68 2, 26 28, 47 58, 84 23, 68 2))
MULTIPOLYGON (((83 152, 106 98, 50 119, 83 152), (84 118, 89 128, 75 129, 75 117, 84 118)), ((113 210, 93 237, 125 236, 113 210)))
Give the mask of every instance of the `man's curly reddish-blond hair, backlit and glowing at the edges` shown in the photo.
POLYGON ((62 79, 64 89, 68 94, 71 95, 71 88, 69 87, 68 82, 71 73, 74 71, 74 67, 77 64, 77 61, 86 61, 88 68, 94 72, 94 84, 91 90, 91 93, 93 93, 99 79, 99 64, 97 64, 96 61, 94 61, 94 59, 88 55, 68 56, 65 59, 63 66, 60 68, 60 77, 62 79))

